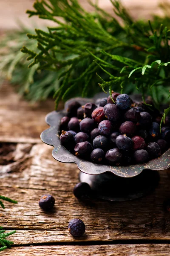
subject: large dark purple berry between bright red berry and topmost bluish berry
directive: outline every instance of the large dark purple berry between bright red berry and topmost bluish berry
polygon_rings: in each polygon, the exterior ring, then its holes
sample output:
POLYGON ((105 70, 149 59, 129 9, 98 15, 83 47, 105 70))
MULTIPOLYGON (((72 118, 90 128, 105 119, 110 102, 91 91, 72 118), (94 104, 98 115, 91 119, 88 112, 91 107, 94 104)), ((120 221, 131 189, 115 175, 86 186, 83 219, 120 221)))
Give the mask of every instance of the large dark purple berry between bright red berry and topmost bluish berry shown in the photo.
POLYGON ((119 108, 115 104, 105 105, 103 112, 105 117, 111 122, 116 122, 119 119, 119 108))

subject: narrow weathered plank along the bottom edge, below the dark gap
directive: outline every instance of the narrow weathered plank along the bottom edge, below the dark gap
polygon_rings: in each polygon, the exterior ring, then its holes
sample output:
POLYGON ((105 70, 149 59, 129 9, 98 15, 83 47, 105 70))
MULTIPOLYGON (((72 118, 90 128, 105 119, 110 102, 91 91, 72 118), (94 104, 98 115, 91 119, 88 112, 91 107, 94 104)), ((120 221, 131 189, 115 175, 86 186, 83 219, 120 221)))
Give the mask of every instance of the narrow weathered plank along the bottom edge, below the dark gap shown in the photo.
POLYGON ((169 256, 169 244, 50 245, 12 247, 3 255, 15 256, 169 256))

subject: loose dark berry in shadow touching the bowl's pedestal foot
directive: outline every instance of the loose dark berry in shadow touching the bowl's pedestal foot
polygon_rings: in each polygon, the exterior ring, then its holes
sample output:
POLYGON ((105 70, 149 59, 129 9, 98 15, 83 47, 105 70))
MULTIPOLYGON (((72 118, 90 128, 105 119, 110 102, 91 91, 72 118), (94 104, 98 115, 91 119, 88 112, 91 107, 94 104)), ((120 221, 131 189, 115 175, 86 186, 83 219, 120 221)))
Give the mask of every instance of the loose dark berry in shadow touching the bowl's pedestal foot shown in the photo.
POLYGON ((86 182, 80 182, 74 186, 73 193, 76 198, 84 198, 90 195, 91 187, 86 182))

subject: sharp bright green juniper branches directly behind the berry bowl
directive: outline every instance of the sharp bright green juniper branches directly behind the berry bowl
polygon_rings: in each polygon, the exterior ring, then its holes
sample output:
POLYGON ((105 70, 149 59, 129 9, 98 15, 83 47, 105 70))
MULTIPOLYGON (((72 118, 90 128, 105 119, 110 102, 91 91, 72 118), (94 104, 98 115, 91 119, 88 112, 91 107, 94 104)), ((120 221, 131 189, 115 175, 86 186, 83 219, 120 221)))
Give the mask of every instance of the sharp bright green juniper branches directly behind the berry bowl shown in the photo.
POLYGON ((56 105, 75 91, 82 96, 96 93, 99 80, 102 90, 109 89, 110 94, 119 88, 127 93, 139 90, 143 100, 151 95, 157 108, 167 102, 170 19, 166 16, 167 24, 158 23, 156 17, 153 22, 135 22, 119 1, 111 2, 123 25, 91 2, 95 12, 90 14, 77 0, 37 0, 35 11, 27 11, 29 17, 38 15, 57 23, 47 32, 35 29, 35 35, 28 34, 37 41, 37 51, 21 50, 32 59, 28 67, 39 64, 37 70, 62 70, 56 105))

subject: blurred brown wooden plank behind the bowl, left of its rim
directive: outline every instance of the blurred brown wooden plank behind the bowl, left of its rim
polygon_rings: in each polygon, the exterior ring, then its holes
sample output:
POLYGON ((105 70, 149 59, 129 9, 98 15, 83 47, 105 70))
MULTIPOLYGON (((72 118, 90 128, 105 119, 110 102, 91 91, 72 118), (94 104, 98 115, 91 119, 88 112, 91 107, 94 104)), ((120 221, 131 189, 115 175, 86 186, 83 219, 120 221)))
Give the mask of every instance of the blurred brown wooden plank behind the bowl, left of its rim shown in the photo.
POLYGON ((54 101, 31 104, 3 84, 0 89, 0 142, 40 143, 42 130, 48 128, 45 115, 54 110, 54 101))

